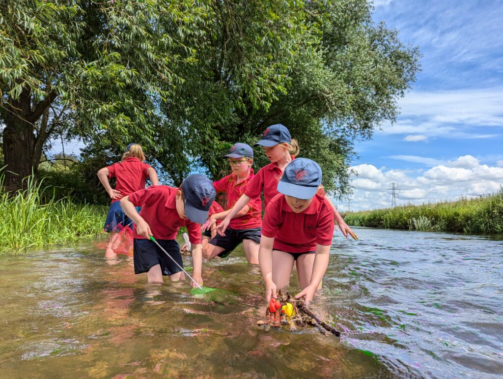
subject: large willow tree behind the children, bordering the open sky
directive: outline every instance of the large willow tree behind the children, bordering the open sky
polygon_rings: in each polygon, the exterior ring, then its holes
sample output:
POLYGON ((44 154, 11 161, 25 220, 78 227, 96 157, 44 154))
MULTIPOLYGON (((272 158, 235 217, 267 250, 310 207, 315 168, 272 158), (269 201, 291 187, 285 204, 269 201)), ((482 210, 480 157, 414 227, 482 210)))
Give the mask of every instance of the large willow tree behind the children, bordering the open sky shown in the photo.
POLYGON ((198 26, 197 64, 161 107, 186 131, 179 149, 216 178, 230 144, 252 143, 283 123, 301 156, 321 165, 326 188, 346 196, 354 141, 395 120, 420 57, 371 13, 367 0, 210 2, 198 26))

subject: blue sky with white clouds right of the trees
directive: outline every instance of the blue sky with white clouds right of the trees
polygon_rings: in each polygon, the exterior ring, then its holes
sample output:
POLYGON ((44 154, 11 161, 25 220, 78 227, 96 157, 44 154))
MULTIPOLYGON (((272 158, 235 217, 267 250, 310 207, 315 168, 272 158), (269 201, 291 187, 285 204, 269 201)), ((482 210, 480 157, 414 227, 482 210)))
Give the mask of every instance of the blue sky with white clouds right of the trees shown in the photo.
MULTIPOLYGON (((422 71, 394 125, 358 142, 352 210, 455 200, 503 183, 503 2, 376 0, 373 19, 418 46, 422 71)), ((347 209, 347 203, 339 205, 347 209)))

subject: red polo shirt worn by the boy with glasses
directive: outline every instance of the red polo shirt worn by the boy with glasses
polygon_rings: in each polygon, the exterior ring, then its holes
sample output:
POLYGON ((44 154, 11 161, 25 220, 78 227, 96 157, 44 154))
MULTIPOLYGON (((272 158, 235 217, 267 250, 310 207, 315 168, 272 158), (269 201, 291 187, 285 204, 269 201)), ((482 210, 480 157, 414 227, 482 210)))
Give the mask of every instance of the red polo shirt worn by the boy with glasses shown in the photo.
MULTIPOLYGON (((254 177, 254 171, 251 169, 248 177, 241 183, 237 183, 237 176, 235 174, 230 174, 213 182, 213 187, 215 187, 215 191, 225 192, 227 194, 227 209, 231 209, 241 195, 245 193, 250 183, 253 182, 254 177)), ((229 228, 243 230, 260 228, 262 226, 262 200, 260 197, 252 198, 246 205, 248 205, 249 210, 245 215, 231 219, 229 228)))

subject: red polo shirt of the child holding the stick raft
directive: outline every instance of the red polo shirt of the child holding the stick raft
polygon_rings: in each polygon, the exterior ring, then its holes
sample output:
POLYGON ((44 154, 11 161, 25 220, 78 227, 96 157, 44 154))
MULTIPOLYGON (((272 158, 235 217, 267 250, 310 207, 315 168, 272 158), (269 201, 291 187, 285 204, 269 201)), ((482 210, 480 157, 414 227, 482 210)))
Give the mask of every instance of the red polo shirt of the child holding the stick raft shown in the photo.
POLYGON ((285 195, 279 194, 266 207, 262 235, 274 238, 274 250, 289 253, 314 251, 316 244, 331 245, 332 207, 317 194, 307 209, 295 213, 286 202, 285 195))

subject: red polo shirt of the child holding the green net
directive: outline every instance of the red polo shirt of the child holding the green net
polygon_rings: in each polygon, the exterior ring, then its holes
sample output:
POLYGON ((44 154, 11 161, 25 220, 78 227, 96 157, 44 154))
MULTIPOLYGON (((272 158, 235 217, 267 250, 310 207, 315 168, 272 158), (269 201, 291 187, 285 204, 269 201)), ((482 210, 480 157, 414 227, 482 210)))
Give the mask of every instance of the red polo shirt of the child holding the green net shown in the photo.
MULTIPOLYGON (((190 242, 200 244, 201 225, 178 215, 175 203, 177 190, 169 186, 150 186, 130 194, 129 201, 141 206, 140 216, 148 223, 156 240, 174 240, 180 227, 187 226, 190 242)), ((136 224, 133 237, 145 240, 136 233, 136 224)))

